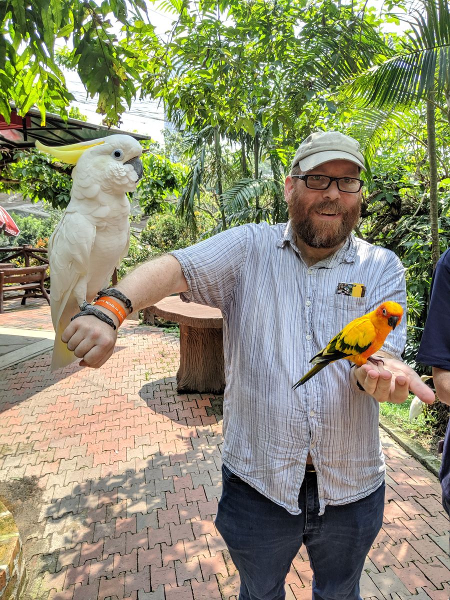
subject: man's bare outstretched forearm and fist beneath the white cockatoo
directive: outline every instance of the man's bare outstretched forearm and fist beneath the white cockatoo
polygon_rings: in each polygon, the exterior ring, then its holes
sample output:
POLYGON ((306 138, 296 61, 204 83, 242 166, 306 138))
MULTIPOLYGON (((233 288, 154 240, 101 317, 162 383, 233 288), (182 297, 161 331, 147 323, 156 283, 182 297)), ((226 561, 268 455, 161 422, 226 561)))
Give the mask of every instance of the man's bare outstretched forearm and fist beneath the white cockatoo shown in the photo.
MULTIPOLYGON (((116 289, 130 298, 133 310, 140 310, 159 302, 166 296, 188 289, 181 266, 170 254, 165 254, 138 266, 119 281, 116 289)), ((103 307, 115 325, 119 322, 115 314, 103 307)), ((112 355, 117 340, 117 331, 94 316, 74 319, 61 336, 69 350, 82 358, 82 367, 101 367, 112 355)))

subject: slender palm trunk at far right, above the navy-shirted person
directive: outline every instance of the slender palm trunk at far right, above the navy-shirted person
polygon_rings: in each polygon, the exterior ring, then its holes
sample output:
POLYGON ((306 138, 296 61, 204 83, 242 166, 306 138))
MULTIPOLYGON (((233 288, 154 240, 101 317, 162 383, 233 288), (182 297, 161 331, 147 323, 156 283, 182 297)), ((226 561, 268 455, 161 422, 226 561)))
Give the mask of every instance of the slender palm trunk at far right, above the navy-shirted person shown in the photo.
POLYGON ((440 256, 439 224, 437 221, 437 157, 436 157, 436 130, 434 128, 434 92, 428 94, 427 99, 427 137, 428 137, 428 162, 430 164, 430 227, 431 227, 431 261, 433 270, 436 268, 440 256))

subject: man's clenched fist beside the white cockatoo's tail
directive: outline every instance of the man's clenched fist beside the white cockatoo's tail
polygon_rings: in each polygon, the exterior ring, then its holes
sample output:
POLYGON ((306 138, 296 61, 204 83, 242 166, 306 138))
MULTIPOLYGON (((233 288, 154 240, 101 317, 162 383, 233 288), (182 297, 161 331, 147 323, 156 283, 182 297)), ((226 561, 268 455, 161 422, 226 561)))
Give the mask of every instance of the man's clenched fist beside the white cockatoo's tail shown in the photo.
MULTIPOLYGON (((118 322, 116 322, 116 325, 118 322)), ((117 339, 107 323, 94 316, 77 317, 64 329, 61 340, 78 358, 80 367, 99 368, 112 355, 117 339)))

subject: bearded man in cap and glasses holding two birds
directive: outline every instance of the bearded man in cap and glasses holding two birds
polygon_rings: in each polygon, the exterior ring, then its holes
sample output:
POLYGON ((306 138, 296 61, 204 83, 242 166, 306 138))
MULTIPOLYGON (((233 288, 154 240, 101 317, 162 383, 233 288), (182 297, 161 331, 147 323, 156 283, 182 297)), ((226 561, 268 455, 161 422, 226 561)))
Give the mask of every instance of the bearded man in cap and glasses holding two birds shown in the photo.
MULTIPOLYGON (((179 292, 223 313, 216 524, 239 570, 240 600, 285 598, 286 574, 302 544, 316 600, 360 597, 364 560, 383 515, 378 403, 403 402, 408 388, 434 399, 400 361, 406 319, 380 352, 385 367, 338 361, 293 389, 311 357, 347 322, 385 300, 406 304, 397 257, 351 235, 361 169, 356 140, 313 133, 286 178, 287 226, 235 227, 140 266, 118 286, 135 309, 179 292)), ((115 331, 96 321, 77 318, 63 334, 81 365, 100 367, 113 351, 115 331)))

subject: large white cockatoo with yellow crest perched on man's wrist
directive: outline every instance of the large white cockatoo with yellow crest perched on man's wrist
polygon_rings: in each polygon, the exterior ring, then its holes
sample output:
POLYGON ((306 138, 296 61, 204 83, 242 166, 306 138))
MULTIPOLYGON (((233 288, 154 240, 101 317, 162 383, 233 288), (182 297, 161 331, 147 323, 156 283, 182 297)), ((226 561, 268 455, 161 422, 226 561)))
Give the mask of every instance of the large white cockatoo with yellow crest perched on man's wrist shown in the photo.
POLYGON ((142 148, 125 134, 70 146, 36 146, 62 163, 76 165, 70 202, 49 239, 55 370, 77 358, 61 341, 71 317, 109 286, 115 267, 127 256, 130 202, 125 193, 134 191, 142 176, 142 148))

